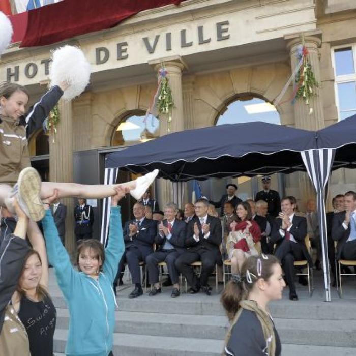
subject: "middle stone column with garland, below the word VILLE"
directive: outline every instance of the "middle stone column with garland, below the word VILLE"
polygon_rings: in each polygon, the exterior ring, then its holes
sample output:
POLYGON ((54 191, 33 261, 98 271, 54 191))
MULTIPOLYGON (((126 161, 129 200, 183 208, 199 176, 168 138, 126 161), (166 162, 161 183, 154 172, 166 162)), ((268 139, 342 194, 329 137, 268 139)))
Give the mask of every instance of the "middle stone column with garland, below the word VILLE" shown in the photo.
MULTIPOLYGON (((172 109, 170 123, 170 132, 183 131, 184 123, 184 108, 183 108, 183 91, 182 91, 182 71, 186 67, 180 56, 173 56, 169 58, 161 58, 157 61, 149 62, 156 72, 161 68, 161 63, 164 62, 167 70, 167 77, 172 91, 174 101, 174 108, 172 109)), ((167 120, 165 117, 160 119, 160 136, 166 135, 168 132, 167 120)), ((159 194, 159 204, 161 207, 173 200, 172 183, 166 180, 157 181, 159 194)))

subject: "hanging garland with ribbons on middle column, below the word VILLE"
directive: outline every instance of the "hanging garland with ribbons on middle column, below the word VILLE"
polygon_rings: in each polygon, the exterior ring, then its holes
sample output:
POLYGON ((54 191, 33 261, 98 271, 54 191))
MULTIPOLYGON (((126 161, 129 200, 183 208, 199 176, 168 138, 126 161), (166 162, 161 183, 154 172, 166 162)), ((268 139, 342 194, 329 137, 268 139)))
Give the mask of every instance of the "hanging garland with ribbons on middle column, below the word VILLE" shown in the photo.
POLYGON ((169 80, 167 77, 167 70, 164 63, 161 64, 161 68, 158 70, 158 85, 157 90, 152 100, 151 105, 147 109, 145 120, 150 114, 154 114, 155 108, 157 109, 157 116, 161 114, 168 115, 167 118, 167 131, 170 132, 170 123, 172 122, 172 108, 175 107, 172 91, 169 86, 169 80))

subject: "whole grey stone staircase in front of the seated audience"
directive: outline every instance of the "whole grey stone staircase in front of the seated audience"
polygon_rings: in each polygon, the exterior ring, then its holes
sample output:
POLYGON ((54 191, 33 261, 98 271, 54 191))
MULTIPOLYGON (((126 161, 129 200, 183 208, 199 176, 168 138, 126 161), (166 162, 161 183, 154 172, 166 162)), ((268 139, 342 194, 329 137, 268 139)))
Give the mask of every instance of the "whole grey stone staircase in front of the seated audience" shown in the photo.
MULTIPOLYGON (((307 288, 298 285, 299 302, 288 300, 271 305, 281 341, 283 356, 354 356, 356 354, 356 282, 345 280, 344 298, 333 290, 333 301, 323 302, 321 276, 316 275, 311 298, 307 288)), ((213 281, 211 283, 214 284, 213 281)), ((228 325, 220 306, 220 295, 182 294, 170 298, 170 288, 150 297, 129 299, 132 290, 124 285, 118 292, 115 313, 114 355, 120 356, 218 356, 228 325)), ((57 307, 54 351, 64 352, 68 309, 53 277, 51 295, 57 307)))

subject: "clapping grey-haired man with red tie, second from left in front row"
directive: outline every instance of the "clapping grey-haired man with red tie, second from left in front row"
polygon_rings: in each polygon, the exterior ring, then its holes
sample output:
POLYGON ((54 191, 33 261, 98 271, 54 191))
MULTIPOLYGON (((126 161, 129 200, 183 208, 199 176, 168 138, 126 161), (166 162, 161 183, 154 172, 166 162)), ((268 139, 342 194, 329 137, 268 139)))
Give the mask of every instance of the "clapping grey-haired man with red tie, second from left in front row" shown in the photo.
POLYGON ((175 298, 180 295, 179 274, 175 267, 175 260, 186 251, 184 243, 187 224, 176 219, 177 211, 178 206, 176 204, 169 203, 165 206, 164 215, 166 219, 158 224, 155 240, 156 252, 146 257, 150 284, 153 285, 153 289, 150 291, 151 296, 161 293, 157 265, 163 261, 167 263, 168 274, 173 284, 171 296, 175 298))

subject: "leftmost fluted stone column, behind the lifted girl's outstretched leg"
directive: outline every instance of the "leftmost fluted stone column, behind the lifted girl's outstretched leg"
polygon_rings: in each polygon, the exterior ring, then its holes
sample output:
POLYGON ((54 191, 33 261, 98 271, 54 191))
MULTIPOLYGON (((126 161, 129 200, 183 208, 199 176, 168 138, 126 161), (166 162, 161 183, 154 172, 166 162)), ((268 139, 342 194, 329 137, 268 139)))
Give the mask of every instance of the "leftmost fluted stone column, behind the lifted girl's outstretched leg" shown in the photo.
MULTIPOLYGON (((58 103, 61 120, 57 133, 50 137, 49 172, 51 182, 73 182, 73 136, 72 136, 72 102, 63 99, 58 103)), ((69 253, 75 251, 74 238, 74 199, 62 199, 67 206, 65 245, 69 253)))

